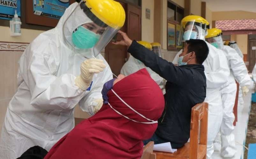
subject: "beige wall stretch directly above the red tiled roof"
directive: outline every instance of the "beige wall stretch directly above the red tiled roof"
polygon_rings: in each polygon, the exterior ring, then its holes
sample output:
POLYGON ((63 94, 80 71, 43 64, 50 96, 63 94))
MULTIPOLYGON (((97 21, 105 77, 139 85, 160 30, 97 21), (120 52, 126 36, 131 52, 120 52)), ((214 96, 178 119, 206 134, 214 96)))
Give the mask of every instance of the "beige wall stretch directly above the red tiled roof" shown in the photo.
POLYGON ((212 20, 255 19, 256 13, 248 11, 212 12, 212 20))

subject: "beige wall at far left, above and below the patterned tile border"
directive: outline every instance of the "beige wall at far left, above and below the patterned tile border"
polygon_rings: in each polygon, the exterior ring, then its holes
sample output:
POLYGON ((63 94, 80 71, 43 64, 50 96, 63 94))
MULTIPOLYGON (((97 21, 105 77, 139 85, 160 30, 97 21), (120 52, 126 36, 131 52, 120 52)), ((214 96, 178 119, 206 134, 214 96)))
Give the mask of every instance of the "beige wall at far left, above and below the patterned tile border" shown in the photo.
MULTIPOLYGON (((11 37, 10 28, 0 26, 0 32, 2 42, 30 43, 44 31, 21 29, 21 36, 11 37)), ((0 51, 0 132, 9 101, 17 91, 18 60, 22 53, 22 51, 0 51)))

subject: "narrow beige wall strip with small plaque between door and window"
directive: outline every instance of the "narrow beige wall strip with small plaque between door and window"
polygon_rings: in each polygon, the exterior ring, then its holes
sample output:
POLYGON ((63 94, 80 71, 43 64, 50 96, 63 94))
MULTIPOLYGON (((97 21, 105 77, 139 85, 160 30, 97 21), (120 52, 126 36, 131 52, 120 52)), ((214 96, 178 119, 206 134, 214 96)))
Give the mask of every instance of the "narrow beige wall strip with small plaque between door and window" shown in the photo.
POLYGON ((154 41, 154 0, 142 0, 142 40, 154 41), (150 19, 146 19, 146 8, 150 9, 150 19))

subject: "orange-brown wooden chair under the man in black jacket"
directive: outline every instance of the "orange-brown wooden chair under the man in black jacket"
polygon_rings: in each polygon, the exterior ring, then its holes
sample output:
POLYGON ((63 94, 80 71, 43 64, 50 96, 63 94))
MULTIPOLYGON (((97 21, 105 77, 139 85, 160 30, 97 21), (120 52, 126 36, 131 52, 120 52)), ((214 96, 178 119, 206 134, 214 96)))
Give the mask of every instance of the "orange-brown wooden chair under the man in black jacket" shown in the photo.
POLYGON ((207 125, 208 103, 195 105, 191 112, 190 142, 187 142, 175 153, 154 151, 157 155, 157 159, 206 159, 207 125), (198 143, 199 133, 200 140, 198 143))

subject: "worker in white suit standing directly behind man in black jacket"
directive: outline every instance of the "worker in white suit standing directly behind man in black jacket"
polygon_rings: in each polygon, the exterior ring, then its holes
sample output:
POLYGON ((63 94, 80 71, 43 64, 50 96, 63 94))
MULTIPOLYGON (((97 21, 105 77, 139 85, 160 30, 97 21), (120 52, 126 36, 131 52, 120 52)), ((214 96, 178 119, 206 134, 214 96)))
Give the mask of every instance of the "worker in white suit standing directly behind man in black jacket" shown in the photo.
MULTIPOLYGON (((207 35, 208 21, 200 16, 190 15, 181 20, 181 30, 179 43, 188 39, 205 40, 207 35)), ((230 75, 227 59, 222 50, 206 42, 209 48, 209 54, 204 61, 204 73, 206 76, 206 98, 205 102, 209 104, 208 110, 208 136, 207 136, 207 158, 210 159, 213 152, 213 141, 220 129, 223 108, 220 87, 223 86, 230 75)), ((173 64, 178 64, 179 55, 183 50, 177 53, 173 64)))

